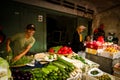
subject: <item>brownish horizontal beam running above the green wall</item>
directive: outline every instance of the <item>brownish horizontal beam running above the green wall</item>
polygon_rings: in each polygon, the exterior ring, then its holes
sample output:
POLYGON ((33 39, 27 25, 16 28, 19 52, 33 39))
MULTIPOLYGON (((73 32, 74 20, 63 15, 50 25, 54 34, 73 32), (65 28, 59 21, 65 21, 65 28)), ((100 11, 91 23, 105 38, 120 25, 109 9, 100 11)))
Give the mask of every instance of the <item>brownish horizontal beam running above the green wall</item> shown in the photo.
MULTIPOLYGON (((59 12, 64 12, 64 13, 68 13, 68 14, 73 14, 76 16, 83 16, 83 17, 90 18, 90 19, 93 18, 93 14, 86 13, 87 10, 85 10, 85 11, 77 10, 77 5, 80 5, 81 7, 84 7, 85 9, 96 10, 92 4, 90 4, 86 1, 80 1, 80 0, 75 0, 75 1, 68 0, 68 2, 74 4, 74 6, 72 6, 74 8, 65 7, 63 5, 64 0, 56 0, 56 1, 53 0, 53 2, 58 2, 58 3, 60 2, 59 5, 53 4, 50 2, 46 2, 46 0, 14 0, 14 1, 22 2, 22 3, 26 3, 26 4, 30 4, 30 5, 35 5, 35 6, 39 6, 39 7, 59 11, 59 12)), ((65 1, 67 1, 67 0, 65 0, 65 1)))

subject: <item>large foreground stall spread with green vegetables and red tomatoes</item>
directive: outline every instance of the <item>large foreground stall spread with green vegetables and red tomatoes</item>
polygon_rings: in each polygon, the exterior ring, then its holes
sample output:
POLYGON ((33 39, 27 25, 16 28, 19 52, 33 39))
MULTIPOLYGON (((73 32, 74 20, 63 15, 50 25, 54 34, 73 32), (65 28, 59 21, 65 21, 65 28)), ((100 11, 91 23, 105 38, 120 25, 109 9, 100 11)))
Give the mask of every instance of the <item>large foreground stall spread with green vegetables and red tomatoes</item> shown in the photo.
POLYGON ((67 46, 57 46, 30 57, 33 60, 24 65, 12 64, 13 80, 119 80, 67 46))

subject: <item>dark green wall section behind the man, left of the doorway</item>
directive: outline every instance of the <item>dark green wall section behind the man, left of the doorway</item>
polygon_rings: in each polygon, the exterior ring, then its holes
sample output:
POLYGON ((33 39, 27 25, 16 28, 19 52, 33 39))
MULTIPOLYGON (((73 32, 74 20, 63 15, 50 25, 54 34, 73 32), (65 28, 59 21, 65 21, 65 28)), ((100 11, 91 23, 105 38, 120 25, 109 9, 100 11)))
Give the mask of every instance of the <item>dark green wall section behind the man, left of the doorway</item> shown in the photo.
POLYGON ((42 52, 46 50, 46 25, 45 14, 35 6, 25 5, 17 2, 0 3, 0 25, 6 37, 10 37, 18 32, 24 32, 25 27, 29 23, 36 25, 36 33, 34 35, 36 42, 31 52, 42 52), (43 16, 43 21, 38 21, 38 16, 43 16))

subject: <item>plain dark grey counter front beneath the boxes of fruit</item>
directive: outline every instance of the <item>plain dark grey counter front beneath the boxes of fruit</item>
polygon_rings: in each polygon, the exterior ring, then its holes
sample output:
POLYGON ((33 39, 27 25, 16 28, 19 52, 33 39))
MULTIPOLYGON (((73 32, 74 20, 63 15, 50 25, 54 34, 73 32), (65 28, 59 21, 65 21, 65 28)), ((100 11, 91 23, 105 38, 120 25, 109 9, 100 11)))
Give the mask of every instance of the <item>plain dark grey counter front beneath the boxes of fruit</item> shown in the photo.
POLYGON ((109 74, 113 74, 113 65, 120 61, 120 58, 110 59, 103 56, 86 53, 86 58, 100 65, 100 69, 109 74))

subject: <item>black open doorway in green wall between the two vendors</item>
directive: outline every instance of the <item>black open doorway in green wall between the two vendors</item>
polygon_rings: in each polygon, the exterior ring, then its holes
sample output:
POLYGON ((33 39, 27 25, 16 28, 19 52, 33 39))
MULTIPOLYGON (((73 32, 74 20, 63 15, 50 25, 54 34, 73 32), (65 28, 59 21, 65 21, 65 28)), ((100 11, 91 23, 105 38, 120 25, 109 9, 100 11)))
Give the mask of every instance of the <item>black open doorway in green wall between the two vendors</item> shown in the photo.
POLYGON ((47 14, 47 49, 53 46, 69 45, 77 19, 64 15, 47 14))

